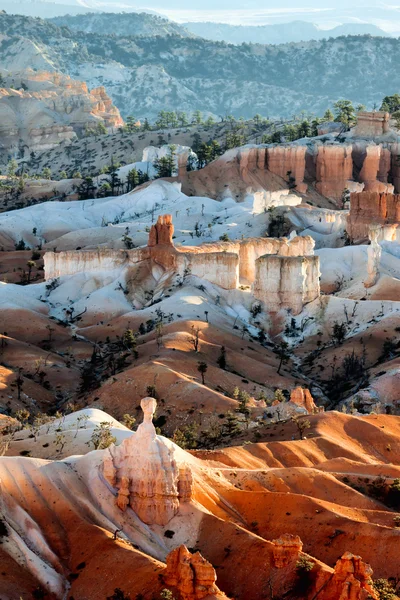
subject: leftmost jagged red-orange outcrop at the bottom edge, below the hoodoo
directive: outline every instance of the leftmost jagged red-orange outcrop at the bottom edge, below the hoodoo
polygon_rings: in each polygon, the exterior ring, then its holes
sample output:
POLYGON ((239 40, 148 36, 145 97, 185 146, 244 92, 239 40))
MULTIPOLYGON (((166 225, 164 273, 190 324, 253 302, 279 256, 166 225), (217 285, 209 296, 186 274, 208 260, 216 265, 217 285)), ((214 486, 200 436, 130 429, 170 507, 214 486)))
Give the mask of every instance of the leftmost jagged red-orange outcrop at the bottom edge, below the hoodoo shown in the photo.
POLYGON ((182 545, 168 554, 164 582, 176 590, 180 600, 226 598, 216 586, 216 580, 214 567, 200 552, 192 554, 182 545))

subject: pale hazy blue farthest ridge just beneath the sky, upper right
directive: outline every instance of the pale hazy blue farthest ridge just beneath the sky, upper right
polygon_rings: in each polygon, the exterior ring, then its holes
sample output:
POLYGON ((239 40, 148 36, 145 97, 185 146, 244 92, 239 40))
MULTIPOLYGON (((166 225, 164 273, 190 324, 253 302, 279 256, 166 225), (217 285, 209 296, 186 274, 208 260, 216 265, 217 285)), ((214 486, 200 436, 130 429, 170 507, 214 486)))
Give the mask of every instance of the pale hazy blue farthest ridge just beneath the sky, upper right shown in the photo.
POLYGON ((383 29, 369 23, 344 23, 333 29, 321 29, 307 21, 292 21, 274 25, 230 25, 214 22, 188 22, 183 26, 193 34, 208 40, 229 44, 286 44, 307 42, 341 35, 376 35, 390 37, 383 29))

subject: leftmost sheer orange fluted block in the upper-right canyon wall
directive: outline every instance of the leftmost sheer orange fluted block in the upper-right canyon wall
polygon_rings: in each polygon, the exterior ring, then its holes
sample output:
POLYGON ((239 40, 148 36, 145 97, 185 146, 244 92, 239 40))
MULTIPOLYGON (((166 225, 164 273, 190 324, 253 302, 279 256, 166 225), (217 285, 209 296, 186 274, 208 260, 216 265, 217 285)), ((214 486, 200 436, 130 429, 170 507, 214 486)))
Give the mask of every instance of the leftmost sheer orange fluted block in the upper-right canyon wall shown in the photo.
POLYGON ((267 150, 267 168, 300 194, 305 194, 306 146, 276 146, 267 150))

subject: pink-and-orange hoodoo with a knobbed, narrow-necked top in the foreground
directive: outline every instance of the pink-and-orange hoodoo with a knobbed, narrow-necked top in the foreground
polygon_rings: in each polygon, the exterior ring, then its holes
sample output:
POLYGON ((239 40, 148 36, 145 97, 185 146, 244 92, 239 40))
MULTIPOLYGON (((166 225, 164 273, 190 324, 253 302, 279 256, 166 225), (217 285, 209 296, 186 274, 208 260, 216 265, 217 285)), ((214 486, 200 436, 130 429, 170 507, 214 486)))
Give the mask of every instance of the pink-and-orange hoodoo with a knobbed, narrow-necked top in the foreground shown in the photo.
POLYGON ((120 446, 107 450, 103 476, 117 490, 120 510, 129 506, 144 523, 166 525, 180 502, 190 501, 192 478, 189 467, 177 465, 174 446, 156 435, 152 421, 156 400, 144 398, 140 405, 143 423, 120 446))

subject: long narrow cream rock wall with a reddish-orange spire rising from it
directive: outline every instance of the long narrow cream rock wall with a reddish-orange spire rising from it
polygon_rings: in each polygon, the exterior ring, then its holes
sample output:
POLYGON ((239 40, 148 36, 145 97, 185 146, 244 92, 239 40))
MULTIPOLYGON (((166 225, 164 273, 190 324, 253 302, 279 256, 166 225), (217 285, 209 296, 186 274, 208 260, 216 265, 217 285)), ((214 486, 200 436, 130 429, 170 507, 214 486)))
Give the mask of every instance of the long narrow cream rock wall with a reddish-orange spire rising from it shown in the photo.
MULTIPOLYGON (((61 232, 60 232, 61 233, 61 232)), ((224 289, 236 289, 240 281, 253 283, 256 261, 265 254, 298 257, 314 253, 310 236, 295 238, 249 238, 175 248, 171 215, 160 215, 150 229, 148 246, 132 250, 46 252, 45 277, 54 279, 85 271, 132 267, 152 261, 162 272, 195 275, 224 289)))

